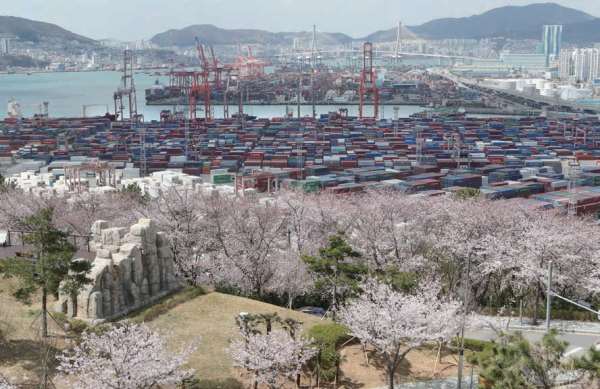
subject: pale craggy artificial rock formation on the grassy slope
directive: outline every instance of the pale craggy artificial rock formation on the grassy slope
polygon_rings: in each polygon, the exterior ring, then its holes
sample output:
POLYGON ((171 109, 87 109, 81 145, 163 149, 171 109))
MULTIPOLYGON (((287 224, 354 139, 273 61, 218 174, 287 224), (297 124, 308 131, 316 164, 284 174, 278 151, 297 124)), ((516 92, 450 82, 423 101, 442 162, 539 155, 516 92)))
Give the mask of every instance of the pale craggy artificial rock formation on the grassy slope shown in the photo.
POLYGON ((129 231, 108 228, 108 222, 98 220, 92 236, 90 249, 96 252, 88 275, 92 283, 76 296, 62 293, 56 311, 100 324, 181 287, 174 277, 169 239, 154 220, 140 219, 129 231))

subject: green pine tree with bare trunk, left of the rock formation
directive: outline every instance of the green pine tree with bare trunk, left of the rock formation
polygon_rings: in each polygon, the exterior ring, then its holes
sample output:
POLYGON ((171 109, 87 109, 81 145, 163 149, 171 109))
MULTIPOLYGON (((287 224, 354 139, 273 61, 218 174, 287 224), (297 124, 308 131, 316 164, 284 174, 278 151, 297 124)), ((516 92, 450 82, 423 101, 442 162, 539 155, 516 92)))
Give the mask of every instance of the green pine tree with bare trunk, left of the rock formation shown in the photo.
POLYGON ((67 241, 69 233, 56 228, 52 223, 53 207, 43 208, 36 215, 25 218, 23 243, 33 246, 29 258, 12 258, 6 261, 5 276, 17 277, 20 286, 14 297, 23 304, 30 305, 32 296, 42 292, 42 336, 48 336, 47 299, 48 295, 58 297, 59 292, 78 293, 85 284, 92 265, 85 260, 72 260, 77 251, 67 241))

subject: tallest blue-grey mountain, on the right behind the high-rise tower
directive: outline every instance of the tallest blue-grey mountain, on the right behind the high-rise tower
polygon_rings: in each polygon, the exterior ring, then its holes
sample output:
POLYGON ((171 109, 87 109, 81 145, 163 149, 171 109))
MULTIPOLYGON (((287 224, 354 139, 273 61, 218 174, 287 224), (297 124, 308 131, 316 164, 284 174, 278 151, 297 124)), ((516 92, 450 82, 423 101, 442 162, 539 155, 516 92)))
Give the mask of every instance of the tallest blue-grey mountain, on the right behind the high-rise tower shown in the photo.
MULTIPOLYGON (((582 29, 593 29, 596 26, 595 20, 596 17, 573 8, 555 3, 536 3, 495 8, 465 18, 436 19, 419 26, 410 26, 407 28, 407 33, 410 31, 422 38, 430 39, 481 39, 500 36, 514 39, 540 39, 544 24, 562 24, 565 26, 563 39, 571 41, 567 37, 577 36, 576 33, 569 35, 571 28, 577 30, 582 24, 587 26, 581 27, 582 29)), ((396 39, 396 31, 396 28, 378 31, 364 39, 373 42, 393 41, 396 39)), ((600 30, 596 31, 600 32, 600 30)))

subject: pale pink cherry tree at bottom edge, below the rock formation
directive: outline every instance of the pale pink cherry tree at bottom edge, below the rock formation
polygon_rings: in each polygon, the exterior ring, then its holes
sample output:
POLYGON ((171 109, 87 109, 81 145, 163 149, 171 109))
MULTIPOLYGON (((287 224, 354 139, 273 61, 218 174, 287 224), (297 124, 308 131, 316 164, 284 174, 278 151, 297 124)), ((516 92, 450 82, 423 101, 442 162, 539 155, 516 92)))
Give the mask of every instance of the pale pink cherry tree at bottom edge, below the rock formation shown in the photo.
POLYGON ((128 321, 101 334, 84 333, 72 350, 57 356, 60 378, 76 389, 150 389, 174 385, 194 370, 182 370, 198 342, 167 346, 170 334, 128 321))

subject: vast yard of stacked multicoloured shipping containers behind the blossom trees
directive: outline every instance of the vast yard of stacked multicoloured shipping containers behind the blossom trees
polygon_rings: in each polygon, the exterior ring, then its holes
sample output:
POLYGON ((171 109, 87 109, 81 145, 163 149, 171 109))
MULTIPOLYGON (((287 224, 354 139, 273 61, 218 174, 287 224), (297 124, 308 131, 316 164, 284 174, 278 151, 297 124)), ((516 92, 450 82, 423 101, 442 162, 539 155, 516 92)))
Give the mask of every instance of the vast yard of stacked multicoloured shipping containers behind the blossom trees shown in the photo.
POLYGON ((65 177, 69 169, 96 161, 114 167, 115 189, 170 171, 187 177, 175 182, 243 191, 346 194, 387 188, 438 196, 474 188, 492 199, 513 199, 515 206, 600 212, 596 119, 361 120, 332 113, 318 119, 216 119, 200 128, 186 123, 3 121, 0 168, 9 180, 38 189, 74 190, 65 177))

